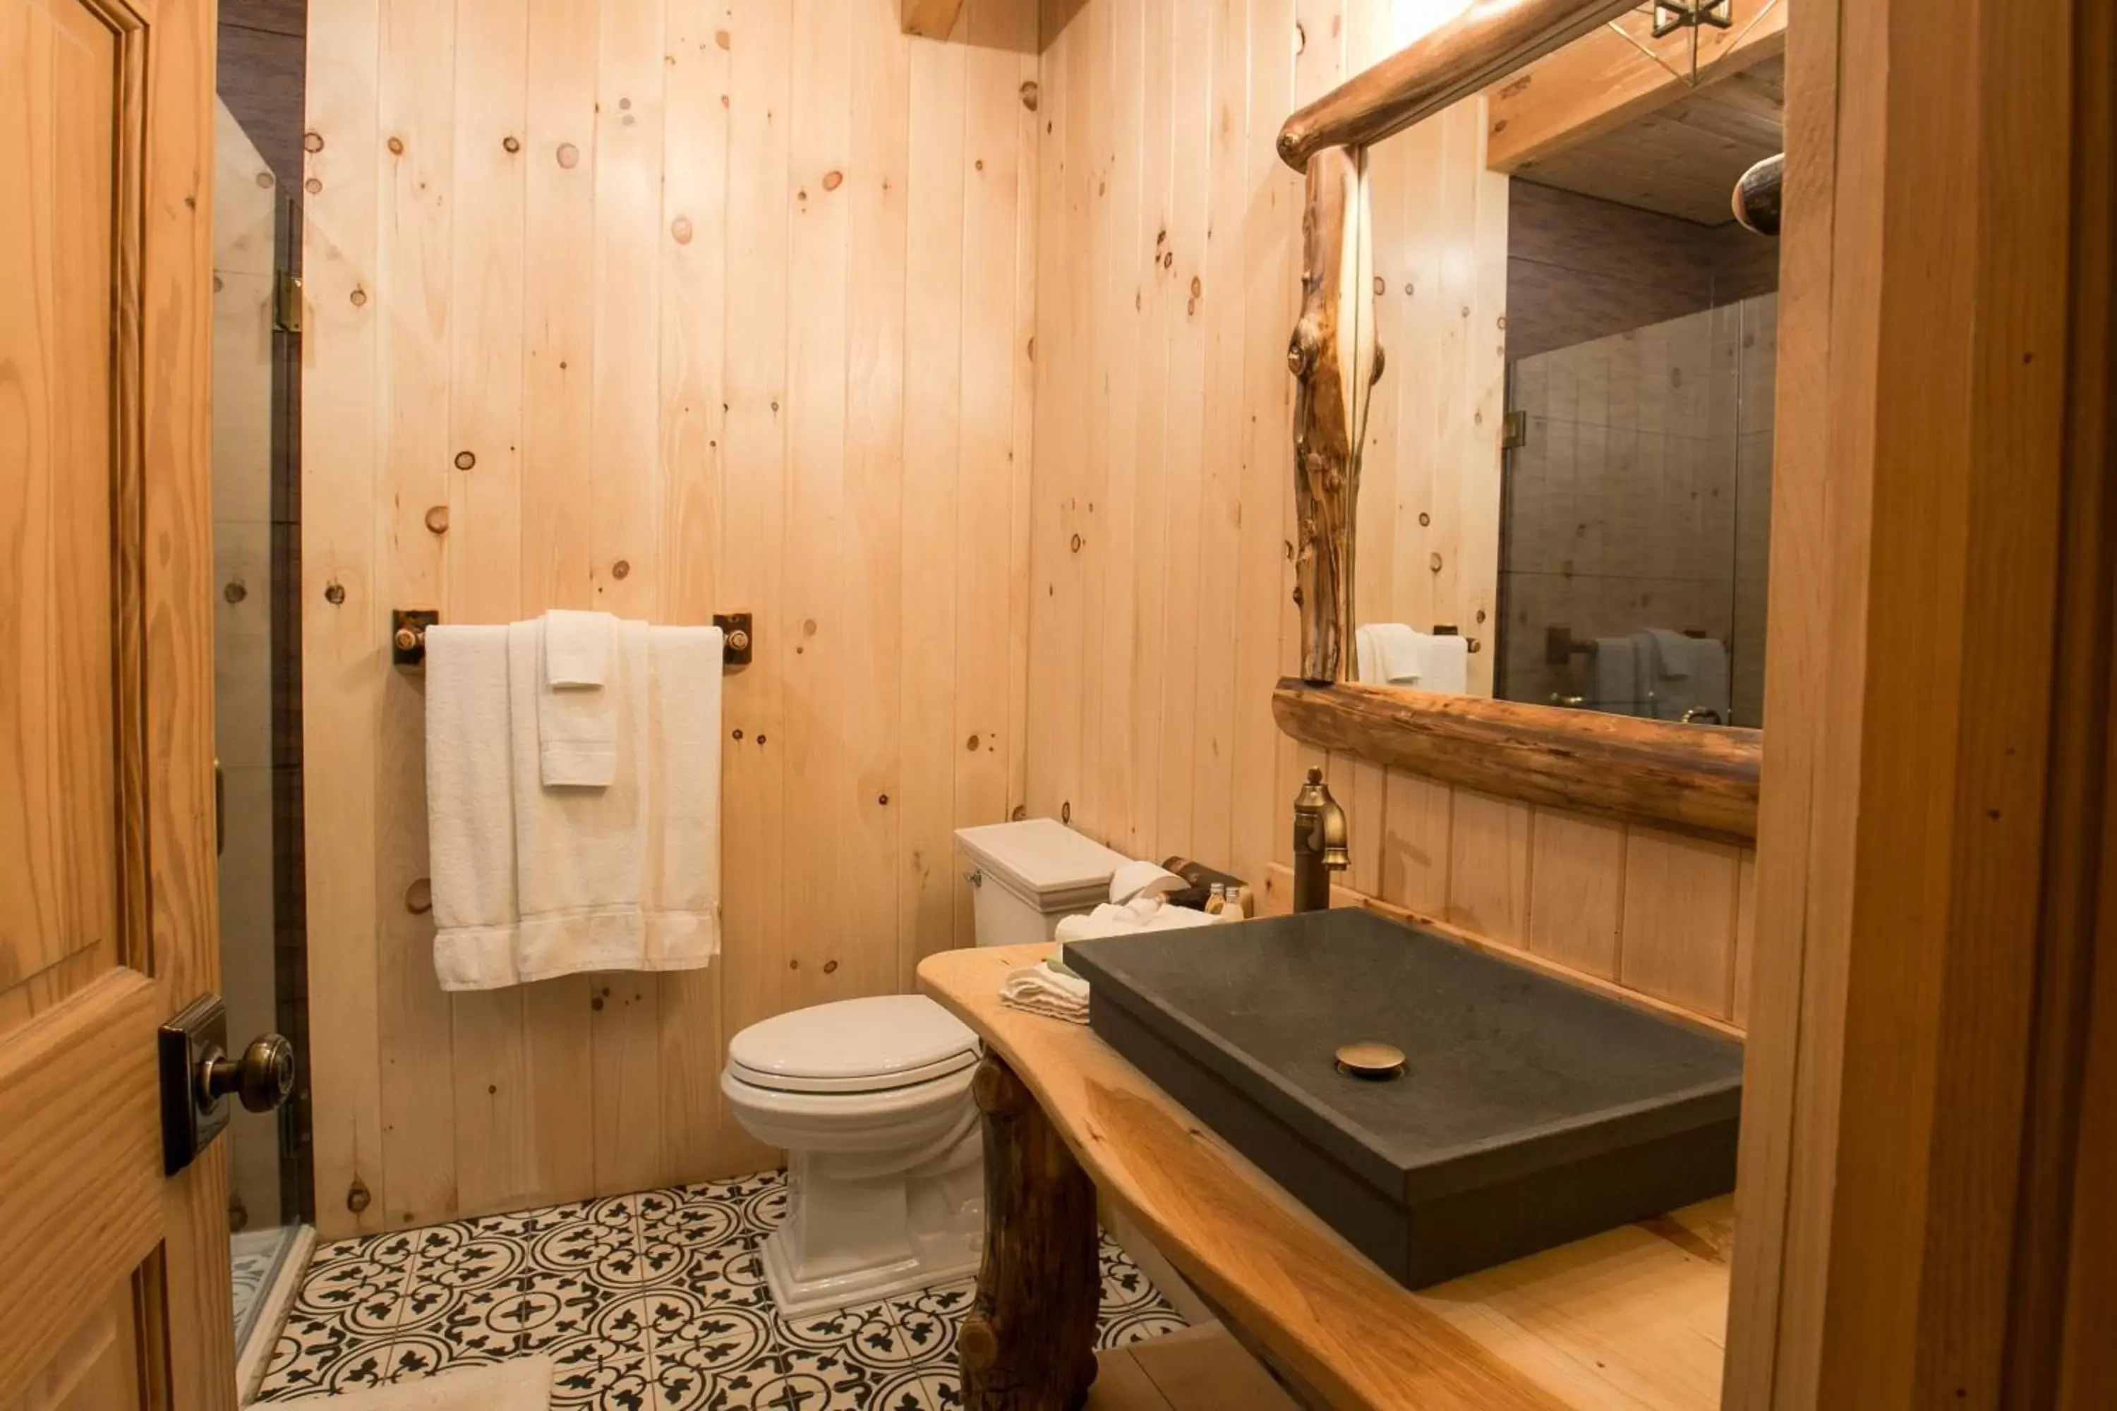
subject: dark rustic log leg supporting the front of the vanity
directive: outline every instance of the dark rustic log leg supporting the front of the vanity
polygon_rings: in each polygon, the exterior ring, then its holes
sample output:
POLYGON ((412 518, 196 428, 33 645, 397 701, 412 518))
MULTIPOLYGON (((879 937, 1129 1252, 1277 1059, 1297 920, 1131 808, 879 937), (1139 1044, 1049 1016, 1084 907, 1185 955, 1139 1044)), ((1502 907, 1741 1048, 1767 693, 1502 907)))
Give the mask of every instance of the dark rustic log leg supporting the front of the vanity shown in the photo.
POLYGON ((1103 1295, 1094 1183, 997 1053, 970 1085, 984 1113, 984 1263, 957 1339, 965 1411, 1075 1411, 1094 1381, 1103 1295))

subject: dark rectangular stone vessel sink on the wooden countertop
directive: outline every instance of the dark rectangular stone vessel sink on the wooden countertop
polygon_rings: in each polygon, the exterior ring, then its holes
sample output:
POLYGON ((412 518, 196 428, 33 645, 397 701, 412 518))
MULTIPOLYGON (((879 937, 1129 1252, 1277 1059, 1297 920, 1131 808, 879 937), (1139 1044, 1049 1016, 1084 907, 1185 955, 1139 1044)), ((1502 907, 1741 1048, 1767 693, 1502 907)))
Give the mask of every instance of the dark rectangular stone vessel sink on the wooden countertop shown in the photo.
POLYGON ((1406 1286, 1734 1189, 1738 1045, 1440 935, 1334 910, 1065 954, 1103 1041, 1406 1286), (1359 1041, 1404 1075, 1342 1073, 1359 1041))

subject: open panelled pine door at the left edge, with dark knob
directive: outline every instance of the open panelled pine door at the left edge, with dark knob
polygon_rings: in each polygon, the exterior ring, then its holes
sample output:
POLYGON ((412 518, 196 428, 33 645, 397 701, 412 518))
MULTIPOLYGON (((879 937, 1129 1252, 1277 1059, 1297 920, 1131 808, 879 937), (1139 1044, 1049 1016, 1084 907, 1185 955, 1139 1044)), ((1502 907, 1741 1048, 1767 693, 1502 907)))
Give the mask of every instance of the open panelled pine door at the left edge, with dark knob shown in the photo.
POLYGON ((218 975, 212 0, 0 0, 0 1407, 235 1405, 218 975))

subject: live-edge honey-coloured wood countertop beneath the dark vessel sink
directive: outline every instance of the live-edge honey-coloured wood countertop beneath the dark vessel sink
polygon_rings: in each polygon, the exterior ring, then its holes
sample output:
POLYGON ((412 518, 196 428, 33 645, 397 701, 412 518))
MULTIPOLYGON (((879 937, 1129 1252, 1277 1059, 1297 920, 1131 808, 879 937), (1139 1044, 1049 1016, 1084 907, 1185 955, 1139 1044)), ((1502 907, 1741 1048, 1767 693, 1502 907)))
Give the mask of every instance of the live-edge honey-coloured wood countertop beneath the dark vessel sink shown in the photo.
POLYGON ((1732 1197, 1410 1293, 1086 1026, 1006 1009, 999 982, 1048 950, 948 950, 919 984, 1308 1396, 1391 1411, 1719 1405, 1732 1197))

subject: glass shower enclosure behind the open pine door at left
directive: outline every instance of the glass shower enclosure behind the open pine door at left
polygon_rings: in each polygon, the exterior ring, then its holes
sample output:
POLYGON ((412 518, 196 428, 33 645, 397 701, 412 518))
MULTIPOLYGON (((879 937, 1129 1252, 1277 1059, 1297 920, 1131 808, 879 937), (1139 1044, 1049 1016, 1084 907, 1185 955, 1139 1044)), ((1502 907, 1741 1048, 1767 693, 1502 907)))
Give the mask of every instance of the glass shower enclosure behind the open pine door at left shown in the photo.
POLYGON ((260 1371, 271 1290, 313 1238, 307 1172, 307 965, 301 903, 298 487, 292 245, 279 173, 216 104, 214 127, 214 753, 220 814, 220 994, 229 1032, 296 1049, 294 1100, 233 1106, 229 1240, 235 1339, 260 1371))

